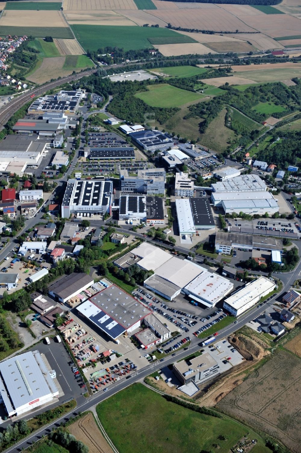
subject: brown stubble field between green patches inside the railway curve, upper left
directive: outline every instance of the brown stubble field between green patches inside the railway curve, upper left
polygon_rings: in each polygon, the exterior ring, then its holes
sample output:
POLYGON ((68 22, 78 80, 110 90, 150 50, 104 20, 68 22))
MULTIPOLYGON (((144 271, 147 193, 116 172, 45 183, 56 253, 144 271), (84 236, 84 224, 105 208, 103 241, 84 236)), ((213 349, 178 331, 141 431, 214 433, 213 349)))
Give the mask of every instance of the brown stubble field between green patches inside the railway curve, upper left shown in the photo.
POLYGON ((72 69, 63 68, 66 57, 44 58, 43 63, 38 69, 33 72, 28 78, 30 82, 45 83, 50 79, 57 79, 58 77, 69 76, 72 70, 80 72, 82 67, 74 67, 72 69))

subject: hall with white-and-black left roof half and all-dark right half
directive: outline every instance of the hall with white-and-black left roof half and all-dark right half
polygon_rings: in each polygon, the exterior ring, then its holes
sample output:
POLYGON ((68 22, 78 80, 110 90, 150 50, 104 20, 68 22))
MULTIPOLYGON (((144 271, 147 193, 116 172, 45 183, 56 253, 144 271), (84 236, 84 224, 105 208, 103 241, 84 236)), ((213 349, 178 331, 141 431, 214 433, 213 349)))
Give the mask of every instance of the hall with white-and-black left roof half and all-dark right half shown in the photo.
POLYGON ((119 220, 162 225, 164 224, 163 199, 150 195, 121 195, 119 220))

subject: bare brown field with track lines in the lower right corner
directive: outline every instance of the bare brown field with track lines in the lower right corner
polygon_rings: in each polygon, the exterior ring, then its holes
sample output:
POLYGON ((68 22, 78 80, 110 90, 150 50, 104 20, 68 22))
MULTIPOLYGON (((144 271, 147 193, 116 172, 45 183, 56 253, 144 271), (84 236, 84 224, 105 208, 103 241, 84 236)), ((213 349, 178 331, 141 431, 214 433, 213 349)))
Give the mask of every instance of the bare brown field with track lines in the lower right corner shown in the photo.
POLYGON ((279 439, 291 452, 301 445, 301 361, 278 350, 260 368, 249 374, 217 408, 279 439))

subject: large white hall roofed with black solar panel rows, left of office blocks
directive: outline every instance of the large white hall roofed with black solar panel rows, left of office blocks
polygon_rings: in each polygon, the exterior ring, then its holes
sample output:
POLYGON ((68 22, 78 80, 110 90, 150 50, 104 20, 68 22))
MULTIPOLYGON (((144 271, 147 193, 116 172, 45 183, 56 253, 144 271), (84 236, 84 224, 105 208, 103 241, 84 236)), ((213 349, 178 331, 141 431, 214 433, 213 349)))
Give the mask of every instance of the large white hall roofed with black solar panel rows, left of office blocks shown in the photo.
POLYGON ((69 179, 62 201, 62 217, 93 217, 111 211, 113 183, 107 181, 69 179))

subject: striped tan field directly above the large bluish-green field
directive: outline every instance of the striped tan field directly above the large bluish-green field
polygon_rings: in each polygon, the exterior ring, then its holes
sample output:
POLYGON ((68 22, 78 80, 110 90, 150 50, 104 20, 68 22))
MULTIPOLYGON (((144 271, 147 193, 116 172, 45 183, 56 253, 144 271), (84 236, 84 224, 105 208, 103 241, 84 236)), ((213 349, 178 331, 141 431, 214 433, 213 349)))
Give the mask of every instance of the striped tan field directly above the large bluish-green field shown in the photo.
MULTIPOLYGON (((64 11, 68 24, 79 25, 135 25, 134 22, 116 11, 64 11)), ((145 24, 145 22, 143 22, 145 24)))

